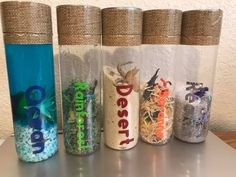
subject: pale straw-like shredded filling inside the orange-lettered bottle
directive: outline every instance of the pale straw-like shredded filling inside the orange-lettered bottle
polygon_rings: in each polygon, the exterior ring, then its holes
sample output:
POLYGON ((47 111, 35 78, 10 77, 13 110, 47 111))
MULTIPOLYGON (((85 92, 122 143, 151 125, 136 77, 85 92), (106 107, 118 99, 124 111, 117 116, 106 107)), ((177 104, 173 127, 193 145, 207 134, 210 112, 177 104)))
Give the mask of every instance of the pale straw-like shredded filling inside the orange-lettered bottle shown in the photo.
POLYGON ((172 83, 163 78, 157 80, 159 70, 145 84, 141 103, 140 135, 151 144, 165 144, 172 134, 172 83))

